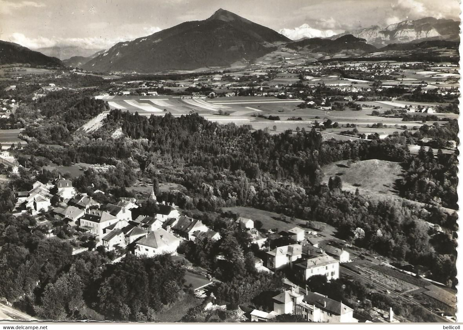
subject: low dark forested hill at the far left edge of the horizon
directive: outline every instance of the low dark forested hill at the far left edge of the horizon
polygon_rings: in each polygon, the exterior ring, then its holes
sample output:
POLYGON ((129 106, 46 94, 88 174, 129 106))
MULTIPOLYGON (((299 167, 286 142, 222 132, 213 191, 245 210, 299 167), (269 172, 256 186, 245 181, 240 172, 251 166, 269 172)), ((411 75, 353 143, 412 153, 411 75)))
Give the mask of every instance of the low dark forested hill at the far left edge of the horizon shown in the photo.
POLYGON ((32 66, 62 66, 56 57, 8 41, 0 40, 0 64, 24 63, 32 66))

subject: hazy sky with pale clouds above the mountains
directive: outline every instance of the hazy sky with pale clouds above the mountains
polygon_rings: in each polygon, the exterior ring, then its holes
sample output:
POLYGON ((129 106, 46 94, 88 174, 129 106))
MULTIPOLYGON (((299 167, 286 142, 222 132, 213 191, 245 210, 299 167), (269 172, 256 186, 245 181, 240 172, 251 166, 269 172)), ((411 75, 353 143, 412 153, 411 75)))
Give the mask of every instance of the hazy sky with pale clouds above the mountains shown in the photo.
POLYGON ((0 0, 0 39, 31 49, 108 49, 223 8, 275 31, 340 33, 427 16, 458 20, 458 0, 0 0))

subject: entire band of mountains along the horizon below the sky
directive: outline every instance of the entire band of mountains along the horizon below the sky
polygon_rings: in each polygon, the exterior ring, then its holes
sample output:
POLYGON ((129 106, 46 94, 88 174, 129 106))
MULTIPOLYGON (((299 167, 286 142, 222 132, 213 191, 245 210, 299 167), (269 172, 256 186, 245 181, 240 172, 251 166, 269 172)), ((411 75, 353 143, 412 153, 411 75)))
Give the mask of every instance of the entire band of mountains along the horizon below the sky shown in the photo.
POLYGON ((120 42, 107 51, 72 56, 63 62, 18 44, 0 41, 0 64, 65 65, 99 72, 156 73, 252 63, 273 51, 284 52, 285 47, 297 51, 300 57, 319 61, 375 56, 419 59, 425 54, 423 50, 429 60, 437 56, 441 60, 448 57, 456 61, 459 58, 458 33, 458 22, 427 17, 385 28, 372 26, 329 38, 293 41, 272 29, 219 9, 208 19, 181 23, 147 37, 120 42), (443 53, 442 49, 453 52, 443 53))

